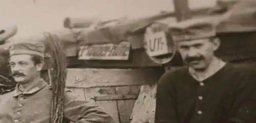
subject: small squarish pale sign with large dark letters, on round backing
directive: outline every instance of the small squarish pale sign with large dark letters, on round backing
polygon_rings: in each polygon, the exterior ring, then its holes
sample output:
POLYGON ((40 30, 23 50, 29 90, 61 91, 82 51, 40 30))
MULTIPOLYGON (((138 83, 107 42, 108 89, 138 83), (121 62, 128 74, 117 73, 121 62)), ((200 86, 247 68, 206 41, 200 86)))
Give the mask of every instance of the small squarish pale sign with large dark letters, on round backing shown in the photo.
POLYGON ((145 34, 145 43, 146 52, 150 57, 165 55, 169 52, 164 31, 145 34))

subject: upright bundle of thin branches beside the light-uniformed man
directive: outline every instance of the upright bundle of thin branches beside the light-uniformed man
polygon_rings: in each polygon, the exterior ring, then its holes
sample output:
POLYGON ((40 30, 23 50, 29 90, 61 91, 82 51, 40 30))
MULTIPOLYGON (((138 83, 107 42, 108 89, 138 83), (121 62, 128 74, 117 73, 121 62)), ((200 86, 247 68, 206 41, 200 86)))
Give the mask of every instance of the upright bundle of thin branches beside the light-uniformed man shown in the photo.
POLYGON ((61 42, 57 36, 50 33, 44 34, 46 39, 46 53, 50 57, 50 69, 48 70, 50 84, 53 89, 51 123, 61 123, 63 119, 63 94, 65 92, 67 63, 61 42))

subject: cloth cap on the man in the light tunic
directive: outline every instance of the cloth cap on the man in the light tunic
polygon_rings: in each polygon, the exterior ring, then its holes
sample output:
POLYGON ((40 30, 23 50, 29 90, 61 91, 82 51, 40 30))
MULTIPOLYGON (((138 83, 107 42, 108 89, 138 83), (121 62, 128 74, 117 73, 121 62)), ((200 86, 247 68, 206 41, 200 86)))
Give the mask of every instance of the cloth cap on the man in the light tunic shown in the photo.
POLYGON ((10 56, 12 55, 38 55, 44 57, 45 45, 40 42, 20 42, 9 46, 10 56))

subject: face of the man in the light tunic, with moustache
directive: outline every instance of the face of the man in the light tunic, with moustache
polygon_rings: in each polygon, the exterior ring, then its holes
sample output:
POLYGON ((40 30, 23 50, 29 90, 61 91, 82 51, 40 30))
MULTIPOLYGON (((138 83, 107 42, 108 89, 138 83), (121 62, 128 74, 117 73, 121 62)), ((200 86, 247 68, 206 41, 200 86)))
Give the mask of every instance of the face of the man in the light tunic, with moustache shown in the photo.
POLYGON ((40 66, 34 64, 31 55, 13 55, 10 57, 10 67, 17 83, 26 83, 37 76, 40 66))

